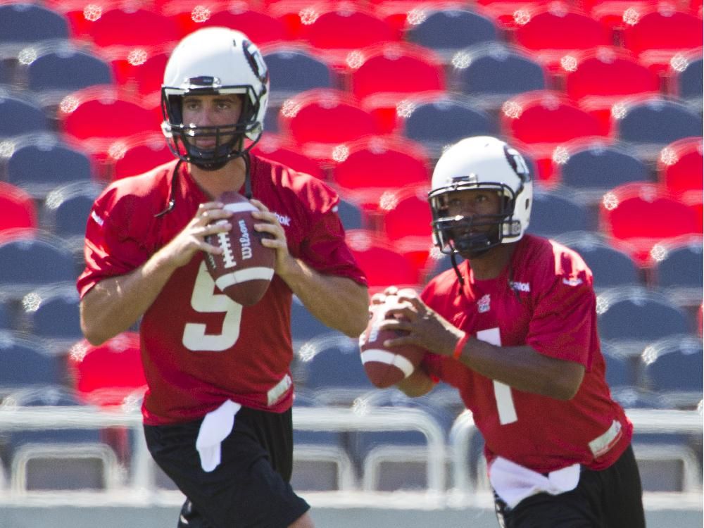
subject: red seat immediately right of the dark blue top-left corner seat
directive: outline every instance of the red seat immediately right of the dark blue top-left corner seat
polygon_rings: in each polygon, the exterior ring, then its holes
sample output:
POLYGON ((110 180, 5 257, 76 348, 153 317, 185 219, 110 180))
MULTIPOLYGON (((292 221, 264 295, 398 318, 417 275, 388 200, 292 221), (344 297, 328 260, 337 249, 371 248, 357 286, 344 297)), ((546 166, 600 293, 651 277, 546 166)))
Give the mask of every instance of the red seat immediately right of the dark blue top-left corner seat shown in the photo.
POLYGON ((81 26, 83 34, 74 37, 89 39, 101 48, 114 47, 136 48, 149 46, 165 46, 177 42, 182 36, 176 23, 156 11, 147 8, 122 8, 115 4, 92 11, 82 11, 77 17, 83 16, 81 26), (125 28, 129 28, 128 31, 125 28))

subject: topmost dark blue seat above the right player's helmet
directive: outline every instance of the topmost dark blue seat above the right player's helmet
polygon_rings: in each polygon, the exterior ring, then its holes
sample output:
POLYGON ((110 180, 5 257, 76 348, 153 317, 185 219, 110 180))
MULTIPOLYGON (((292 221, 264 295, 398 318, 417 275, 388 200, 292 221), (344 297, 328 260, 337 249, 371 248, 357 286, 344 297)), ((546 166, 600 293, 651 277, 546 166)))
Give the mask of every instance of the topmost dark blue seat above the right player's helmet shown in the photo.
POLYGON ((429 10, 407 27, 406 39, 439 53, 446 62, 460 49, 498 40, 491 18, 459 8, 429 10))

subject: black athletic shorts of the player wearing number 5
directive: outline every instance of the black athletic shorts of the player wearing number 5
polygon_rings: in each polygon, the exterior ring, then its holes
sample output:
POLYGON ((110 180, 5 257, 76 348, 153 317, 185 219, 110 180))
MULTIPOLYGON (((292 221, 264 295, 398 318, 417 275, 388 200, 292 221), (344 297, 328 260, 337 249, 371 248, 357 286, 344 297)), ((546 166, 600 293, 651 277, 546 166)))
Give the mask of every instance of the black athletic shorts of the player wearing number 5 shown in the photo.
POLYGON ((178 527, 285 528, 306 513, 310 506, 289 484, 290 409, 279 414, 242 407, 212 472, 203 471, 196 451, 201 422, 144 426, 154 460, 187 496, 178 527))

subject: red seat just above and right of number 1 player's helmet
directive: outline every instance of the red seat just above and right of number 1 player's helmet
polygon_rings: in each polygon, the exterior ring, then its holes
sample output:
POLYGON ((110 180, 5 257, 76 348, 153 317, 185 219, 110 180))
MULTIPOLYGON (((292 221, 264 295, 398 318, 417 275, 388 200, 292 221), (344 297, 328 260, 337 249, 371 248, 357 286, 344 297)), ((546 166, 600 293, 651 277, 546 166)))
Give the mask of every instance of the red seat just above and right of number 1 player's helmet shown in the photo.
POLYGON ((552 179, 555 147, 572 139, 608 136, 596 117, 558 92, 539 90, 503 103, 501 130, 534 159, 543 182, 552 179))

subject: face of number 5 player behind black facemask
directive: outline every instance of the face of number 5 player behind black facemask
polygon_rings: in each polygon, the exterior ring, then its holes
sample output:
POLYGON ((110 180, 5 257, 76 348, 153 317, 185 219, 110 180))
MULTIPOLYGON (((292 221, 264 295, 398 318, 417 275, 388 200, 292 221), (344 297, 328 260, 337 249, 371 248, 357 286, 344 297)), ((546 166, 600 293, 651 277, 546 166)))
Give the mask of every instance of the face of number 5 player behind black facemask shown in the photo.
MULTIPOLYGON (((242 100, 234 94, 222 95, 188 95, 183 99, 183 122, 187 127, 225 127, 222 132, 225 134, 219 138, 219 143, 223 144, 232 139, 231 134, 227 134, 227 125, 234 125, 239 120, 242 112, 242 100)), ((230 127, 234 132, 234 127, 230 127)), ((189 141, 193 142, 199 149, 214 149, 216 139, 210 137, 194 137, 189 141)))

